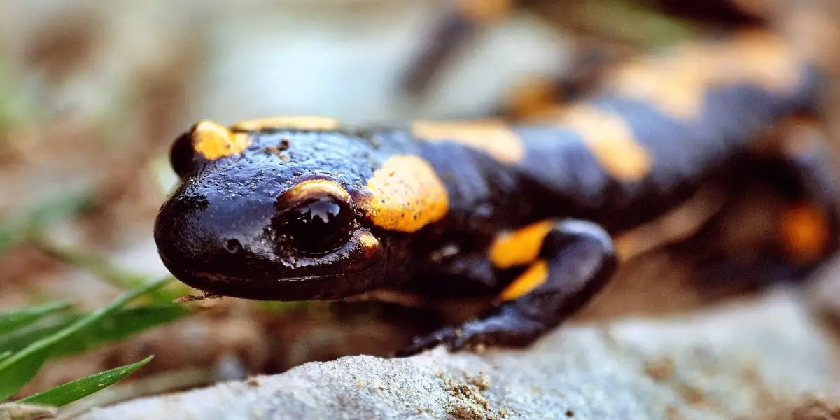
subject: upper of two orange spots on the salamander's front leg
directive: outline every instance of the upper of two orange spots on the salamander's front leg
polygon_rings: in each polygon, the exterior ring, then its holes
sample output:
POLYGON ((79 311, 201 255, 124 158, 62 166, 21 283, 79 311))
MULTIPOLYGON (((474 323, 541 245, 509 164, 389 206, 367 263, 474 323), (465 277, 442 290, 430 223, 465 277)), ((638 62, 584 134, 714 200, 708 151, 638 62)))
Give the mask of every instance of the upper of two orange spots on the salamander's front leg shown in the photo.
POLYGON ((545 235, 554 226, 553 219, 531 223, 513 232, 500 234, 490 246, 488 256, 493 265, 505 270, 517 265, 527 265, 537 260, 545 235))

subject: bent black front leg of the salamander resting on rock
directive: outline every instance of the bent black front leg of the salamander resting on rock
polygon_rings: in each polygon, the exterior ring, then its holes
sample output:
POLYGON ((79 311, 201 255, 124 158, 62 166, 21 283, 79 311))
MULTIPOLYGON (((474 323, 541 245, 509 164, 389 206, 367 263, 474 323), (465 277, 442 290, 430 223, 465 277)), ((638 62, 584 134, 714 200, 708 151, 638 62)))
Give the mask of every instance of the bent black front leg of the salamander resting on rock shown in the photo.
POLYGON ((485 317, 415 339, 398 355, 416 354, 438 344, 450 350, 531 344, 589 302, 617 265, 610 235, 580 220, 553 223, 536 257, 501 292, 499 303, 485 317))

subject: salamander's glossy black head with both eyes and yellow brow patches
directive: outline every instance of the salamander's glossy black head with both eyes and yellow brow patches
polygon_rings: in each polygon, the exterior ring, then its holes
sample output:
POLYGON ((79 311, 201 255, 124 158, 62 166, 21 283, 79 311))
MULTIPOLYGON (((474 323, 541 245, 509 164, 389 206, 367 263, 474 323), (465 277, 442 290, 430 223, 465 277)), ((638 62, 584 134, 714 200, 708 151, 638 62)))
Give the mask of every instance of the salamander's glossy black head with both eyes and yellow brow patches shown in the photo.
POLYGON ((223 296, 325 299, 380 286, 405 247, 382 222, 394 213, 371 180, 392 155, 374 140, 197 123, 171 149, 181 183, 155 222, 161 259, 223 296))

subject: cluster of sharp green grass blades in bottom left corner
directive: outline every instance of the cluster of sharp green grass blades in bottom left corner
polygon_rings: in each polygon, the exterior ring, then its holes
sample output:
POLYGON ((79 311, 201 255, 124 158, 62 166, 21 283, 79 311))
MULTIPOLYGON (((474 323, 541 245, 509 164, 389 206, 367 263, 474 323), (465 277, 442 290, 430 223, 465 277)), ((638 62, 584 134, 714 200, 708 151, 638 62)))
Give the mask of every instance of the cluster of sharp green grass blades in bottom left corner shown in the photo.
MULTIPOLYGON (((48 360, 113 343, 186 314, 186 309, 172 303, 128 306, 129 302, 148 296, 150 291, 169 281, 171 278, 166 277, 147 282, 125 292, 108 306, 86 314, 73 311, 66 303, 24 307, 0 314, 0 402, 21 391, 48 360)), ((61 407, 75 402, 131 375, 152 357, 0 405, 0 418, 14 418, 14 412, 33 405, 61 407)))

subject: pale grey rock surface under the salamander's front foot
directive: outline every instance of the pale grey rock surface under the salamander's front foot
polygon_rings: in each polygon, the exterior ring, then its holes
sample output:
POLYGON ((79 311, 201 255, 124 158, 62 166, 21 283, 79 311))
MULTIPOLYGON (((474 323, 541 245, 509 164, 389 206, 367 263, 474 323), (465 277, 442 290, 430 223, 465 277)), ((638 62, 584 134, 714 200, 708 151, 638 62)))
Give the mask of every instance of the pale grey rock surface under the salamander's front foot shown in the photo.
POLYGON ((766 418, 840 380, 792 292, 684 318, 559 328, 527 350, 350 356, 87 412, 82 420, 766 418))

